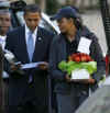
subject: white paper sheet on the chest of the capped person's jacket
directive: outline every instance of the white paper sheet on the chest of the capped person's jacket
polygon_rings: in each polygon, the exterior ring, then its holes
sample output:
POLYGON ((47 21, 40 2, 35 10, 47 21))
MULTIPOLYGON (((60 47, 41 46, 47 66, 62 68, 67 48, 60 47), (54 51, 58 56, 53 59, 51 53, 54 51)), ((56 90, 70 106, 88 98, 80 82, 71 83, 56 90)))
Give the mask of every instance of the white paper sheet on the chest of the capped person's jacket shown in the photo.
POLYGON ((90 54, 90 50, 89 50, 90 44, 91 44, 91 39, 81 37, 77 50, 89 55, 90 54))

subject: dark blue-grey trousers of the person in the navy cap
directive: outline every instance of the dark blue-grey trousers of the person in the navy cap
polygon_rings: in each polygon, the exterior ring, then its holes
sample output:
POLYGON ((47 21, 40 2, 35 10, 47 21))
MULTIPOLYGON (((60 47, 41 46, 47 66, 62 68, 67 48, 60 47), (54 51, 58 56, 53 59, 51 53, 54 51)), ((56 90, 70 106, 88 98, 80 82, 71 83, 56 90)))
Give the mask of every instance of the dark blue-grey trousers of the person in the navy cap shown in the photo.
POLYGON ((87 98, 88 93, 85 91, 80 95, 75 90, 70 93, 56 93, 58 113, 75 113, 87 98))

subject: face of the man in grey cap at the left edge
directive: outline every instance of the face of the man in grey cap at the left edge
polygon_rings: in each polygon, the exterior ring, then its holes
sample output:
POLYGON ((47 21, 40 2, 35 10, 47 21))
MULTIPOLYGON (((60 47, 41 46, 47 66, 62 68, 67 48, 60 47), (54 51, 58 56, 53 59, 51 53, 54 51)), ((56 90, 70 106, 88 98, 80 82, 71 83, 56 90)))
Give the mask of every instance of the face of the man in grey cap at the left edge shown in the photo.
POLYGON ((9 13, 0 14, 0 32, 7 34, 11 25, 11 18, 9 13))

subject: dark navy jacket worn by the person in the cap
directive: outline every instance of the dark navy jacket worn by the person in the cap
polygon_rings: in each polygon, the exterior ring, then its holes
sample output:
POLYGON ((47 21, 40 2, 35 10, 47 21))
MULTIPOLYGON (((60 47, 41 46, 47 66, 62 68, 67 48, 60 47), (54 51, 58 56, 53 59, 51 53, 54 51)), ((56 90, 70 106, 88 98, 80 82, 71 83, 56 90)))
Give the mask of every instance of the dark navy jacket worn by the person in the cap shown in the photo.
MULTIPOLYGON (((80 37, 85 36, 92 39, 90 45, 90 56, 97 61, 98 71, 94 75, 94 78, 98 82, 102 75, 105 74, 105 61, 102 57, 101 48, 98 44, 98 39, 88 29, 78 31, 76 34, 76 41, 79 42, 80 37)), ((64 39, 65 35, 57 35, 51 46, 51 56, 50 56, 50 74, 55 80, 55 91, 59 93, 68 93, 72 87, 76 87, 78 92, 80 90, 88 90, 89 86, 82 83, 68 83, 65 80, 66 74, 58 69, 58 64, 62 60, 66 60, 66 41, 64 39)), ((78 44, 78 43, 77 43, 78 44)), ((76 92, 76 91, 75 91, 76 92)))

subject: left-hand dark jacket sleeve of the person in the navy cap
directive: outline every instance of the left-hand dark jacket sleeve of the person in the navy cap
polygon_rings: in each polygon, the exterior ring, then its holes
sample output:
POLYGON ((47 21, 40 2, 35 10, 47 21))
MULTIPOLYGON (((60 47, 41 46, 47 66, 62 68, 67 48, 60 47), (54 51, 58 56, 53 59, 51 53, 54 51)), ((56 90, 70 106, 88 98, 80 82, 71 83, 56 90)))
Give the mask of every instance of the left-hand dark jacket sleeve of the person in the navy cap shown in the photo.
POLYGON ((57 38, 54 37, 50 50, 50 74, 55 80, 65 80, 66 74, 58 69, 58 46, 57 38))

